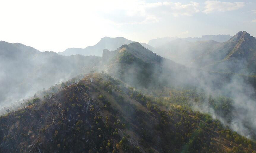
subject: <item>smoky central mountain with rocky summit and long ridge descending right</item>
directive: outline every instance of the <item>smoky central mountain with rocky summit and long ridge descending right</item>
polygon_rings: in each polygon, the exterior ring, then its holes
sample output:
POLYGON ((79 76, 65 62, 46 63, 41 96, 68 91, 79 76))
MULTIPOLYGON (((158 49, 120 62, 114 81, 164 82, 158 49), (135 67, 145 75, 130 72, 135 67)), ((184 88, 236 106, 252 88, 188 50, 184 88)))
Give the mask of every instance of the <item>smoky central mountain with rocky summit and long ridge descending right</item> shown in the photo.
POLYGON ((217 90, 225 87, 233 78, 232 74, 208 72, 177 64, 139 43, 123 45, 115 51, 104 50, 102 64, 102 70, 131 86, 152 90, 163 86, 217 90))

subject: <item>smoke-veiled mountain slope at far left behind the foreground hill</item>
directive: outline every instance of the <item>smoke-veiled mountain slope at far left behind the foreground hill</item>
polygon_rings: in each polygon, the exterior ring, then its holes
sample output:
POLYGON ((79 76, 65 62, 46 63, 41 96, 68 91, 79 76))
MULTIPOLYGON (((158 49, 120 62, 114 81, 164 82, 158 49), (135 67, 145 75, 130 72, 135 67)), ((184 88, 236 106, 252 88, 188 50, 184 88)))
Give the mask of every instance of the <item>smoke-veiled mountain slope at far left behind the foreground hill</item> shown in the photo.
POLYGON ((90 72, 99 62, 100 57, 96 56, 62 56, 0 41, 0 106, 90 72))

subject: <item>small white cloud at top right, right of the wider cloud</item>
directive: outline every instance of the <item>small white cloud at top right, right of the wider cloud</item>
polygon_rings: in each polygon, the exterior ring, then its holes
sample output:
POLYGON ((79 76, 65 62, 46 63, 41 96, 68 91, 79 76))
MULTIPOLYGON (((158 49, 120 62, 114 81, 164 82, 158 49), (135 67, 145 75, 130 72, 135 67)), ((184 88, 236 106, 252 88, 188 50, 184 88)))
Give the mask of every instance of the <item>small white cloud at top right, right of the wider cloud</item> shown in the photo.
POLYGON ((245 6, 244 2, 206 1, 204 4, 204 13, 232 11, 245 6))

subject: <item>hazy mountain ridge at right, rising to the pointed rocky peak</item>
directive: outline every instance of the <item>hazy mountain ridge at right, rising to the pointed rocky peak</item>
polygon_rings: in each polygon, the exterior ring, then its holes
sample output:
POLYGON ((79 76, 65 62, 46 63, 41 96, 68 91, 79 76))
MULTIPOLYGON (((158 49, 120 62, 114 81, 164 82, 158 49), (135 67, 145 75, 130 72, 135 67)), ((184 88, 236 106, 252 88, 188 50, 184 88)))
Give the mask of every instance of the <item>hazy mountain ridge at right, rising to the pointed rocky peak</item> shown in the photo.
POLYGON ((247 32, 238 32, 223 43, 176 39, 157 47, 155 52, 175 62, 211 71, 256 73, 256 39, 247 32))

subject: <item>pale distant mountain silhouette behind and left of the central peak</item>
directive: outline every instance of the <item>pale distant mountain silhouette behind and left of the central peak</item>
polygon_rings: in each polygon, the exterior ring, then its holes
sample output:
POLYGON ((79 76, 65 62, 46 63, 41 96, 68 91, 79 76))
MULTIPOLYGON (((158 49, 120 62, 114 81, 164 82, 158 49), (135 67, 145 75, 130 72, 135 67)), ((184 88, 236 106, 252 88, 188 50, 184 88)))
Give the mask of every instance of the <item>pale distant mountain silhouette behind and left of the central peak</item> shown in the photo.
MULTIPOLYGON (((88 46, 84 49, 82 48, 68 48, 63 52, 58 52, 60 55, 94 55, 94 56, 102 56, 102 50, 108 49, 108 50, 116 50, 122 45, 132 43, 134 41, 125 39, 123 37, 116 37, 116 38, 110 38, 110 37, 104 37, 101 38, 101 40, 94 46, 88 46)), ((141 43, 141 45, 145 46, 146 48, 149 48, 151 50, 154 50, 153 47, 150 45, 147 45, 145 43, 141 43)))

